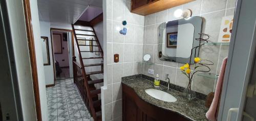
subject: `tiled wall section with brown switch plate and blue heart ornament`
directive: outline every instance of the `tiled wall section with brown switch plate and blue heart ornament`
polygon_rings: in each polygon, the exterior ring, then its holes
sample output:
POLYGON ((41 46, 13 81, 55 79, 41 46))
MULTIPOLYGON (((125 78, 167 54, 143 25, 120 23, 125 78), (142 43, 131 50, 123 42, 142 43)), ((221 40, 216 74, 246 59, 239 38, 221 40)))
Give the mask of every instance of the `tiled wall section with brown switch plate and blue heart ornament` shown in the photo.
MULTIPOLYGON (((106 0, 107 88, 104 91, 105 120, 121 120, 121 77, 142 73, 144 16, 130 12, 131 1, 106 0), (126 20, 126 35, 119 33, 126 20), (114 62, 119 54, 119 62, 114 62)), ((105 80, 106 81, 106 80, 105 80)))

